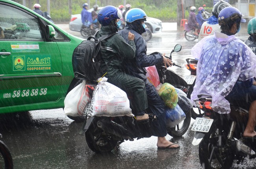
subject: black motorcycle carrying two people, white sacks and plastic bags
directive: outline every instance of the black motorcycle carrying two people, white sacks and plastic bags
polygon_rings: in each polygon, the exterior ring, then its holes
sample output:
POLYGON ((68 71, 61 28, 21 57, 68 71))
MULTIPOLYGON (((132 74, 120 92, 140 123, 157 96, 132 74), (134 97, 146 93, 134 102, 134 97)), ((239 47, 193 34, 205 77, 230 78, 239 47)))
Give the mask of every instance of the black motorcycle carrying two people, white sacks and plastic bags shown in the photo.
MULTIPOLYGON (((173 53, 181 50, 181 45, 177 44, 174 47, 173 53)), ((171 56, 170 56, 171 57, 171 56)), ((175 65, 175 63, 173 63, 175 65)), ((167 83, 174 83, 174 86, 185 90, 187 84, 175 72, 167 70, 165 66, 161 65, 158 67, 159 70, 164 70, 160 75, 160 80, 167 83), (174 79, 176 75, 176 81, 174 79), (178 83, 180 82, 180 83, 178 83), (185 86, 183 86, 185 85, 185 86)), ((89 95, 92 96, 93 90, 96 86, 95 83, 86 82, 87 89, 89 90, 89 95)), ((91 109, 91 103, 87 103, 83 116, 85 116, 85 121, 83 123, 82 130, 79 134, 85 134, 85 140, 88 147, 94 152, 108 152, 119 145, 124 140, 133 141, 135 138, 140 139, 144 137, 152 136, 150 134, 150 127, 152 121, 156 120, 153 114, 149 113, 149 119, 147 122, 139 123, 134 118, 128 116, 118 116, 118 117, 104 117, 104 116, 89 116, 89 111, 91 109)), ((190 110, 186 113, 186 119, 180 124, 174 127, 167 127, 167 132, 171 136, 182 136, 188 129, 191 112, 190 110)))

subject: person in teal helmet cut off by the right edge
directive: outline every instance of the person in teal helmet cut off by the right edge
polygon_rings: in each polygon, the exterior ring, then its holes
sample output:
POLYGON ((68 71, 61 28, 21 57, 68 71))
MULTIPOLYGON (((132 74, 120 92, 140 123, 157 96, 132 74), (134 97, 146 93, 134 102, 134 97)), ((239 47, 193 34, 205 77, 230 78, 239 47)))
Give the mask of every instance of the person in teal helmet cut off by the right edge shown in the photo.
POLYGON ((256 54, 256 18, 252 18, 248 22, 247 32, 250 37, 245 41, 245 44, 256 54))

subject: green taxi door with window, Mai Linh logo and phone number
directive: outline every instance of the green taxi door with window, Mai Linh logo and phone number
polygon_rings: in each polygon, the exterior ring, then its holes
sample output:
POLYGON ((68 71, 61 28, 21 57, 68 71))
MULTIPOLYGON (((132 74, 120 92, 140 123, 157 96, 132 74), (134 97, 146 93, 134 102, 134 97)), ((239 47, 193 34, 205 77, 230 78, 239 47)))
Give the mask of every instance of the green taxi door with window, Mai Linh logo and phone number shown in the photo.
POLYGON ((20 7, 0 3, 0 108, 59 98, 61 57, 56 42, 46 40, 42 21, 20 7))

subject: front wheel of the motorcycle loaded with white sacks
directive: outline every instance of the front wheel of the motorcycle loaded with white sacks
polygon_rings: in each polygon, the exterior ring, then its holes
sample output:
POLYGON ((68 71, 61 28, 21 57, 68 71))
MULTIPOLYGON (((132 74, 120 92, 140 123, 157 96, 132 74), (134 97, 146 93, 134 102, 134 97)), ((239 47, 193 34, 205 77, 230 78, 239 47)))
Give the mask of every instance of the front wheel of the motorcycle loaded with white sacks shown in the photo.
POLYGON ((169 129, 167 129, 168 134, 172 137, 183 136, 183 134, 185 134, 187 132, 187 129, 189 128, 190 121, 191 112, 189 111, 186 113, 186 118, 183 121, 181 121, 178 125, 174 127, 169 127, 169 129))

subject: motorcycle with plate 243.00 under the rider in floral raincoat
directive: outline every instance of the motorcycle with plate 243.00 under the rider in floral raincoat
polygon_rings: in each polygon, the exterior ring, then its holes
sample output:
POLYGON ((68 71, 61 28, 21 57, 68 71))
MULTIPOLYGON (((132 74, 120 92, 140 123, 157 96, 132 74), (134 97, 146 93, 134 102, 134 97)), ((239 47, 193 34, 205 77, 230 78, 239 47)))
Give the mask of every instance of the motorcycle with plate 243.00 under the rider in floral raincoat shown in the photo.
POLYGON ((197 118, 191 128, 195 131, 192 144, 199 144, 204 169, 229 169, 234 160, 239 164, 246 157, 256 157, 254 138, 242 136, 249 117, 247 110, 230 103, 230 114, 218 114, 208 95, 198 95, 197 104, 204 110, 204 116, 197 118))

